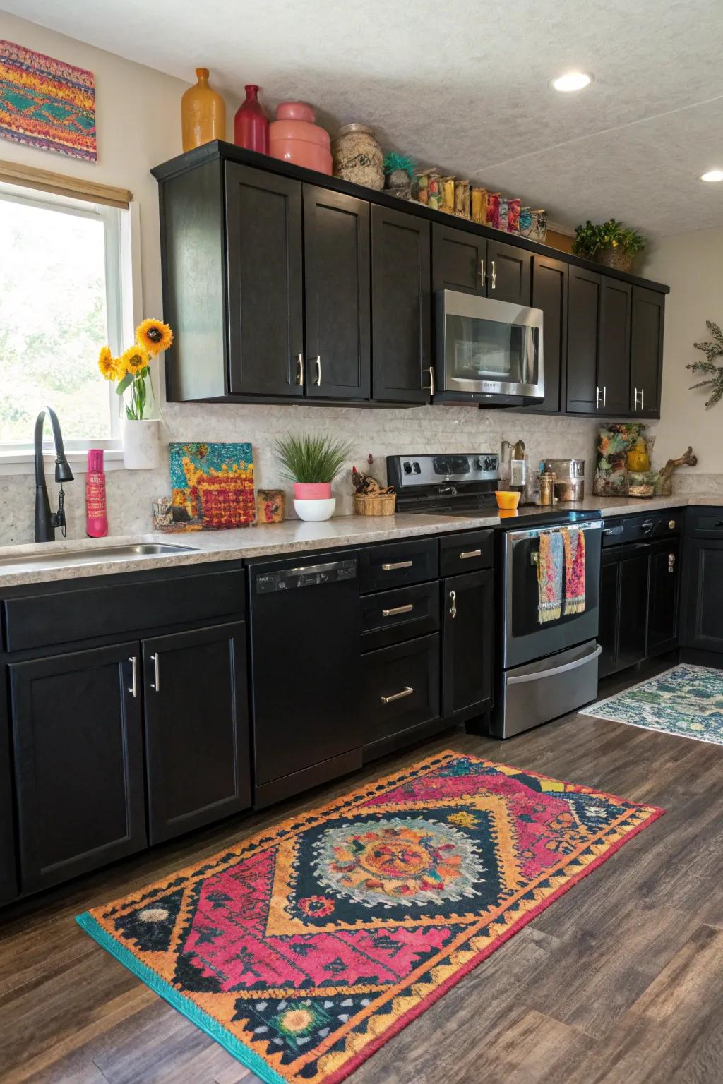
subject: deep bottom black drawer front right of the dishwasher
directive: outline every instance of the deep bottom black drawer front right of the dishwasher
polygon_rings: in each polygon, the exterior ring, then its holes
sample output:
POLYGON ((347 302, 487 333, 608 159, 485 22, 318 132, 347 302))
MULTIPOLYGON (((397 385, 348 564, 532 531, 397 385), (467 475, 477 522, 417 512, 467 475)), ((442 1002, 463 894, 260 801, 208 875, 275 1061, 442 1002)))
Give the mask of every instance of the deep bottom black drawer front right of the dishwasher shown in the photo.
POLYGON ((371 651, 362 659, 364 744, 439 718, 439 634, 371 651))

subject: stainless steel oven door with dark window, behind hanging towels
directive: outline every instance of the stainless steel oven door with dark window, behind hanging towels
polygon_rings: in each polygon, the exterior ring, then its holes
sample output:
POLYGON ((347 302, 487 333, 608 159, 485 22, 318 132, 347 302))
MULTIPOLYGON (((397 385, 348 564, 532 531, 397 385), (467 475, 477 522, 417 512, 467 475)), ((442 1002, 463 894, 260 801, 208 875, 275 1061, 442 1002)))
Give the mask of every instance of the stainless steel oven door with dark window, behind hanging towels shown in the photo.
POLYGON ((597 636, 602 520, 505 533, 503 560, 503 668, 531 662, 597 636), (540 623, 538 557, 544 531, 584 531, 585 609, 540 623))

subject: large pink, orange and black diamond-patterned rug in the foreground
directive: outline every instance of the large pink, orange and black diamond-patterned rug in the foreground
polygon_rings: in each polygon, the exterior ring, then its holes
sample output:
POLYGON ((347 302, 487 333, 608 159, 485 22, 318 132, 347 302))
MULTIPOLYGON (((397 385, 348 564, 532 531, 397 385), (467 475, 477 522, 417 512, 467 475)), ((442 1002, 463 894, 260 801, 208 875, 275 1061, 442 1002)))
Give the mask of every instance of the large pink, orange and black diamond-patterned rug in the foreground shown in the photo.
POLYGON ((261 1080, 336 1084, 662 812, 443 752, 78 922, 261 1080))

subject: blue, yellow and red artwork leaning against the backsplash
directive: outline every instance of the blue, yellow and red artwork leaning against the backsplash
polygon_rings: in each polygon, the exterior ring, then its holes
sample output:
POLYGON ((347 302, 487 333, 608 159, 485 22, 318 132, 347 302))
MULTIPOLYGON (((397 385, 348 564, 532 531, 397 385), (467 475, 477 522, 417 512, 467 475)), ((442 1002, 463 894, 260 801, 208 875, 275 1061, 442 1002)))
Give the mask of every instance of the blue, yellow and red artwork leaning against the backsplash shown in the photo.
POLYGON ((250 444, 169 444, 173 529, 253 527, 254 450, 250 444))

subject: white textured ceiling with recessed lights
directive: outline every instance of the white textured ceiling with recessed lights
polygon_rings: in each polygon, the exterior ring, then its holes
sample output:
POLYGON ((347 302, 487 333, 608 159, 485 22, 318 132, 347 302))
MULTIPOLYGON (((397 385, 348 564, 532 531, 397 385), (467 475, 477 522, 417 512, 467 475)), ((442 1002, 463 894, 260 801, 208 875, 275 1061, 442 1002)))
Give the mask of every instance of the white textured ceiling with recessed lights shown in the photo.
POLYGON ((723 225, 723 0, 0 0, 5 10, 232 98, 258 82, 332 134, 521 195, 574 225, 723 225), (593 85, 559 94, 571 68, 593 85))

